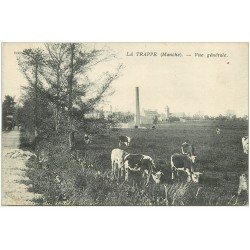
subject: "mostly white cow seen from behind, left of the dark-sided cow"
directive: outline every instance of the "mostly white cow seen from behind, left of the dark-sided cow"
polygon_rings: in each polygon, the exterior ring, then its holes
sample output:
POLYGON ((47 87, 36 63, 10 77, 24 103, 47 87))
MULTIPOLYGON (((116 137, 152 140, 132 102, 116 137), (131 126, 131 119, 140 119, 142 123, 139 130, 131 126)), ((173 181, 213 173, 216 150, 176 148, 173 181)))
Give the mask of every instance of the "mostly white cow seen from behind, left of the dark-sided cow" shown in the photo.
POLYGON ((115 148, 111 152, 112 175, 113 178, 117 178, 117 182, 120 176, 125 176, 124 158, 126 155, 128 155, 128 153, 119 148, 115 148))

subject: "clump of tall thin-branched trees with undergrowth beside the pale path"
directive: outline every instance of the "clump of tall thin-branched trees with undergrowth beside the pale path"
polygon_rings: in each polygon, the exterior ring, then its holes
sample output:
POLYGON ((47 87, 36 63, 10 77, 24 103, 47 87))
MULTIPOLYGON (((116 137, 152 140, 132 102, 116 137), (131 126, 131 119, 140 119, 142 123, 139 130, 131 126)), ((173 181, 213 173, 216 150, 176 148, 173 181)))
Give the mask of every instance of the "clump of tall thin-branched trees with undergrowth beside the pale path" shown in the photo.
MULTIPOLYGON (((116 60, 107 48, 80 43, 45 43, 17 54, 19 69, 27 81, 18 122, 33 138, 46 133, 66 133, 74 148, 74 133, 84 115, 112 94, 111 85, 120 76, 118 61, 111 71, 89 77, 98 65, 116 60)), ((97 70, 98 72, 98 70, 97 70)))

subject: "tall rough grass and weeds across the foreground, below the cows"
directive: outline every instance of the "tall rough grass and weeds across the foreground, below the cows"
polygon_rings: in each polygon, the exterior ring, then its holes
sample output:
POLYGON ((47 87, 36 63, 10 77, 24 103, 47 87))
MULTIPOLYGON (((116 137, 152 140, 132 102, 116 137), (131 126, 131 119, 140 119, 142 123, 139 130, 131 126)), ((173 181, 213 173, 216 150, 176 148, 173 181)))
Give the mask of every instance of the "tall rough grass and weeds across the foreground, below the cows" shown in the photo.
POLYGON ((70 152, 54 156, 48 162, 28 162, 30 191, 42 194, 38 205, 245 205, 246 197, 238 200, 227 190, 195 183, 175 182, 134 188, 119 185, 111 171, 100 172, 93 165, 77 162, 70 152))

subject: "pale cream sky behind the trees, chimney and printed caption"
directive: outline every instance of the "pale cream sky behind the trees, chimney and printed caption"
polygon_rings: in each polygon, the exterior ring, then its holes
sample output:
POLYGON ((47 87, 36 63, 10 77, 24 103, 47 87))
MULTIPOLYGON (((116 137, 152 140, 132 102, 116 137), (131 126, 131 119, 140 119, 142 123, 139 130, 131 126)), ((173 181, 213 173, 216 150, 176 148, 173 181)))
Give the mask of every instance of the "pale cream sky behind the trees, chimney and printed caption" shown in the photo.
MULTIPOLYGON (((114 94, 104 108, 135 112, 135 87, 140 89, 140 108, 163 112, 207 115, 233 110, 248 114, 248 43, 97 43, 109 48, 117 59, 90 72, 93 79, 119 63, 124 69, 113 83, 114 94), (132 56, 133 53, 133 56, 132 56), (163 53, 163 56, 161 56, 163 53), (165 53, 165 54, 164 54, 165 53), (166 54, 177 56, 166 56, 166 54), (212 53, 212 55, 211 55, 212 53), (130 56, 128 56, 130 55, 130 56), (154 55, 154 56, 153 56, 154 55)), ((14 52, 42 46, 35 43, 3 43, 2 96, 18 99, 26 80, 18 69, 14 52)))

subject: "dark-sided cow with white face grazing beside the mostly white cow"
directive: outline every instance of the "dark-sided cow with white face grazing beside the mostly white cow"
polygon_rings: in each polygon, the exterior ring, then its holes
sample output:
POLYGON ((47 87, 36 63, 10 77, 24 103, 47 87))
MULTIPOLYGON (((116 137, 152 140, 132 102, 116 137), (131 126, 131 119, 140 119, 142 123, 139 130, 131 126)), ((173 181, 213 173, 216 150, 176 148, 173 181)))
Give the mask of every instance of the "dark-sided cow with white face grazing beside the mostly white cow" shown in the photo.
POLYGON ((124 158, 126 176, 125 180, 132 179, 135 185, 139 186, 141 181, 146 178, 146 186, 149 183, 150 176, 153 180, 159 183, 161 175, 160 171, 157 171, 153 159, 150 156, 143 154, 128 154, 124 158))

